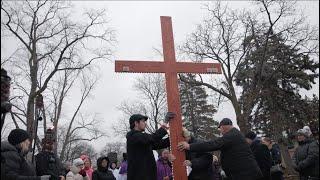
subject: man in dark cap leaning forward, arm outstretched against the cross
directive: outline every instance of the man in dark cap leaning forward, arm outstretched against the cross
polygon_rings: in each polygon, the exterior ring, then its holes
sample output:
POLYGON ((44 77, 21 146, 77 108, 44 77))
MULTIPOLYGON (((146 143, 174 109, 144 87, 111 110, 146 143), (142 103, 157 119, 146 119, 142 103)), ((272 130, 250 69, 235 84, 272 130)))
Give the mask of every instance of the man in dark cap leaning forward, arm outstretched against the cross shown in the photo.
POLYGON ((213 141, 188 144, 180 142, 178 149, 191 152, 209 152, 221 150, 221 165, 228 180, 256 180, 262 177, 257 162, 243 134, 232 126, 228 118, 219 124, 222 137, 213 141))

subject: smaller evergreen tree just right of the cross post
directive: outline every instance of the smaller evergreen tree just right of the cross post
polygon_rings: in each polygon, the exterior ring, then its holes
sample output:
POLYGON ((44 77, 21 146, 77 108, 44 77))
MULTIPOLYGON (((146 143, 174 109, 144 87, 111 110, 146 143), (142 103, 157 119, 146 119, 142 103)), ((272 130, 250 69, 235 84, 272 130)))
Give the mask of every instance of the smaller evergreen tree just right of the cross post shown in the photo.
MULTIPOLYGON (((181 76, 188 81, 195 80, 195 75, 192 74, 181 76)), ((210 140, 219 134, 218 122, 213 119, 217 110, 212 104, 208 104, 208 95, 203 87, 180 81, 180 99, 183 125, 196 138, 210 140)))

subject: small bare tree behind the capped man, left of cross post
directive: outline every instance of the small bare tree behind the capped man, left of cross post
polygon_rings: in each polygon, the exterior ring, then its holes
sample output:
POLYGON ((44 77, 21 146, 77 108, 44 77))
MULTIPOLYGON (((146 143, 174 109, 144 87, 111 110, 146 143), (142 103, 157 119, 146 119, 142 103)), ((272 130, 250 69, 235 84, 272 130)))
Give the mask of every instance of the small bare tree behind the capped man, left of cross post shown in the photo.
POLYGON ((149 117, 147 131, 155 132, 166 111, 166 92, 164 77, 160 74, 141 76, 136 79, 134 89, 139 92, 140 99, 133 102, 122 102, 118 109, 123 113, 119 123, 113 126, 118 135, 125 135, 130 130, 129 117, 140 113, 149 117))

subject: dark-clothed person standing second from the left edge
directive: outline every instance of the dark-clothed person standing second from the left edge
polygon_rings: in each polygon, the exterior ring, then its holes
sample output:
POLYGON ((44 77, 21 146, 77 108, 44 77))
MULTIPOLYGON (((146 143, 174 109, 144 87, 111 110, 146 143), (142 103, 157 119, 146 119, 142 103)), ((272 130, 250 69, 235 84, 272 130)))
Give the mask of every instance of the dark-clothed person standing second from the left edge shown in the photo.
POLYGON ((54 142, 42 139, 42 151, 36 155, 36 172, 38 176, 51 175, 50 180, 64 180, 63 165, 54 154, 54 142))

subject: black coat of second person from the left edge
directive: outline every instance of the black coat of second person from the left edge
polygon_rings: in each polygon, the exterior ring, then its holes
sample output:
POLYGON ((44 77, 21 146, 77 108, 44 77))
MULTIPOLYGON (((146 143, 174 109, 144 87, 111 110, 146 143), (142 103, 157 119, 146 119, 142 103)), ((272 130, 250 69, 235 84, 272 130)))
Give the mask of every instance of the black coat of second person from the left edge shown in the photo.
POLYGON ((63 165, 60 159, 53 153, 42 151, 36 155, 36 172, 38 176, 51 175, 50 180, 60 180, 63 176, 63 165))

